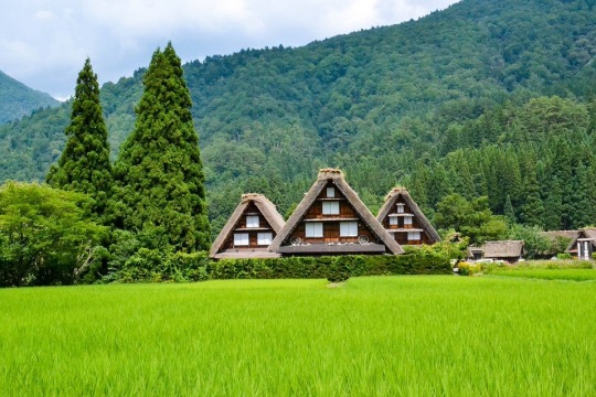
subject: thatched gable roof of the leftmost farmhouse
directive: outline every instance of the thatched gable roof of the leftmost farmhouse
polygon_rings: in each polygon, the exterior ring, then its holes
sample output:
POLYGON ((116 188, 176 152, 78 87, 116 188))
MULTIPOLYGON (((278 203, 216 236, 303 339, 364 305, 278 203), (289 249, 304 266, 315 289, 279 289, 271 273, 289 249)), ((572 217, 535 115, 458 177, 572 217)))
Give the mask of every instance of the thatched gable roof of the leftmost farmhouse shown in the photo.
POLYGON ((236 210, 234 210, 232 216, 230 216, 230 219, 227 219, 227 223, 222 228, 222 232, 220 232, 217 238, 215 238, 215 242, 213 242, 211 250, 209 251, 210 257, 213 258, 220 251, 222 245, 225 243, 230 234, 234 232, 234 226, 236 226, 241 216, 244 214, 246 207, 248 207, 251 203, 256 205, 258 211, 263 214, 276 234, 281 230, 281 227, 284 227, 284 218, 281 215, 279 215, 277 207, 269 201, 269 198, 257 193, 243 194, 238 206, 236 206, 236 210))

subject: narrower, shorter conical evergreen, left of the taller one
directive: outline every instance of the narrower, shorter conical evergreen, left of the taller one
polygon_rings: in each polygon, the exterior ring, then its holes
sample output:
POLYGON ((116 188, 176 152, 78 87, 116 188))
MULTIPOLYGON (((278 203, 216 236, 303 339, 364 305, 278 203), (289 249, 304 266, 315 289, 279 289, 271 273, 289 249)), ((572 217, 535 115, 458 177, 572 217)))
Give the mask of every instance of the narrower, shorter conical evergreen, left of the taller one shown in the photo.
POLYGON ((103 216, 113 185, 107 128, 99 103, 99 84, 89 58, 76 79, 66 146, 46 182, 53 186, 88 194, 93 211, 103 216))

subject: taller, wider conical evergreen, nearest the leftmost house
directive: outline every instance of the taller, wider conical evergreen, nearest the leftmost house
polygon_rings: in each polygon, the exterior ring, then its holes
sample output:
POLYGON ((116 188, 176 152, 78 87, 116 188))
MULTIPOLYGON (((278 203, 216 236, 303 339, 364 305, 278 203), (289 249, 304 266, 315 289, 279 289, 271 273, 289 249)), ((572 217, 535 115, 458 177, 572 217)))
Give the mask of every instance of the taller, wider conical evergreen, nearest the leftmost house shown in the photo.
POLYGON ((115 165, 116 226, 153 245, 209 249, 204 173, 191 97, 171 43, 153 53, 136 108, 135 130, 115 165))

